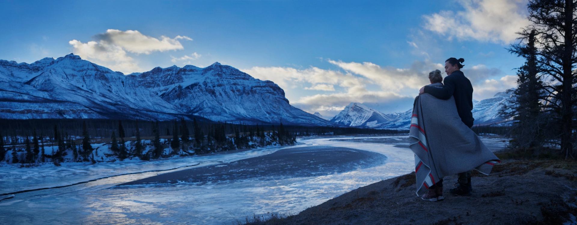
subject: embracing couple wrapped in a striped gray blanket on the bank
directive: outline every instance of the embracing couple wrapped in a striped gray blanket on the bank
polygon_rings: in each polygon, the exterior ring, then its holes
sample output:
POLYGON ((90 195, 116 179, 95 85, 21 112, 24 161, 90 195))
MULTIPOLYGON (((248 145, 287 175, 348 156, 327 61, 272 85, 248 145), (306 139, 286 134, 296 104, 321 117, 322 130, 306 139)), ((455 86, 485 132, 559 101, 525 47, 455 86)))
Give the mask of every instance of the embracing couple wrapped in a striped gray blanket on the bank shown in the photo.
POLYGON ((417 196, 443 200, 443 177, 458 174, 458 196, 470 196, 471 171, 489 175, 499 158, 493 154, 473 127, 473 86, 460 71, 463 58, 445 61, 444 85, 440 70, 429 73, 431 84, 422 87, 413 103, 409 136, 415 153, 417 196))

